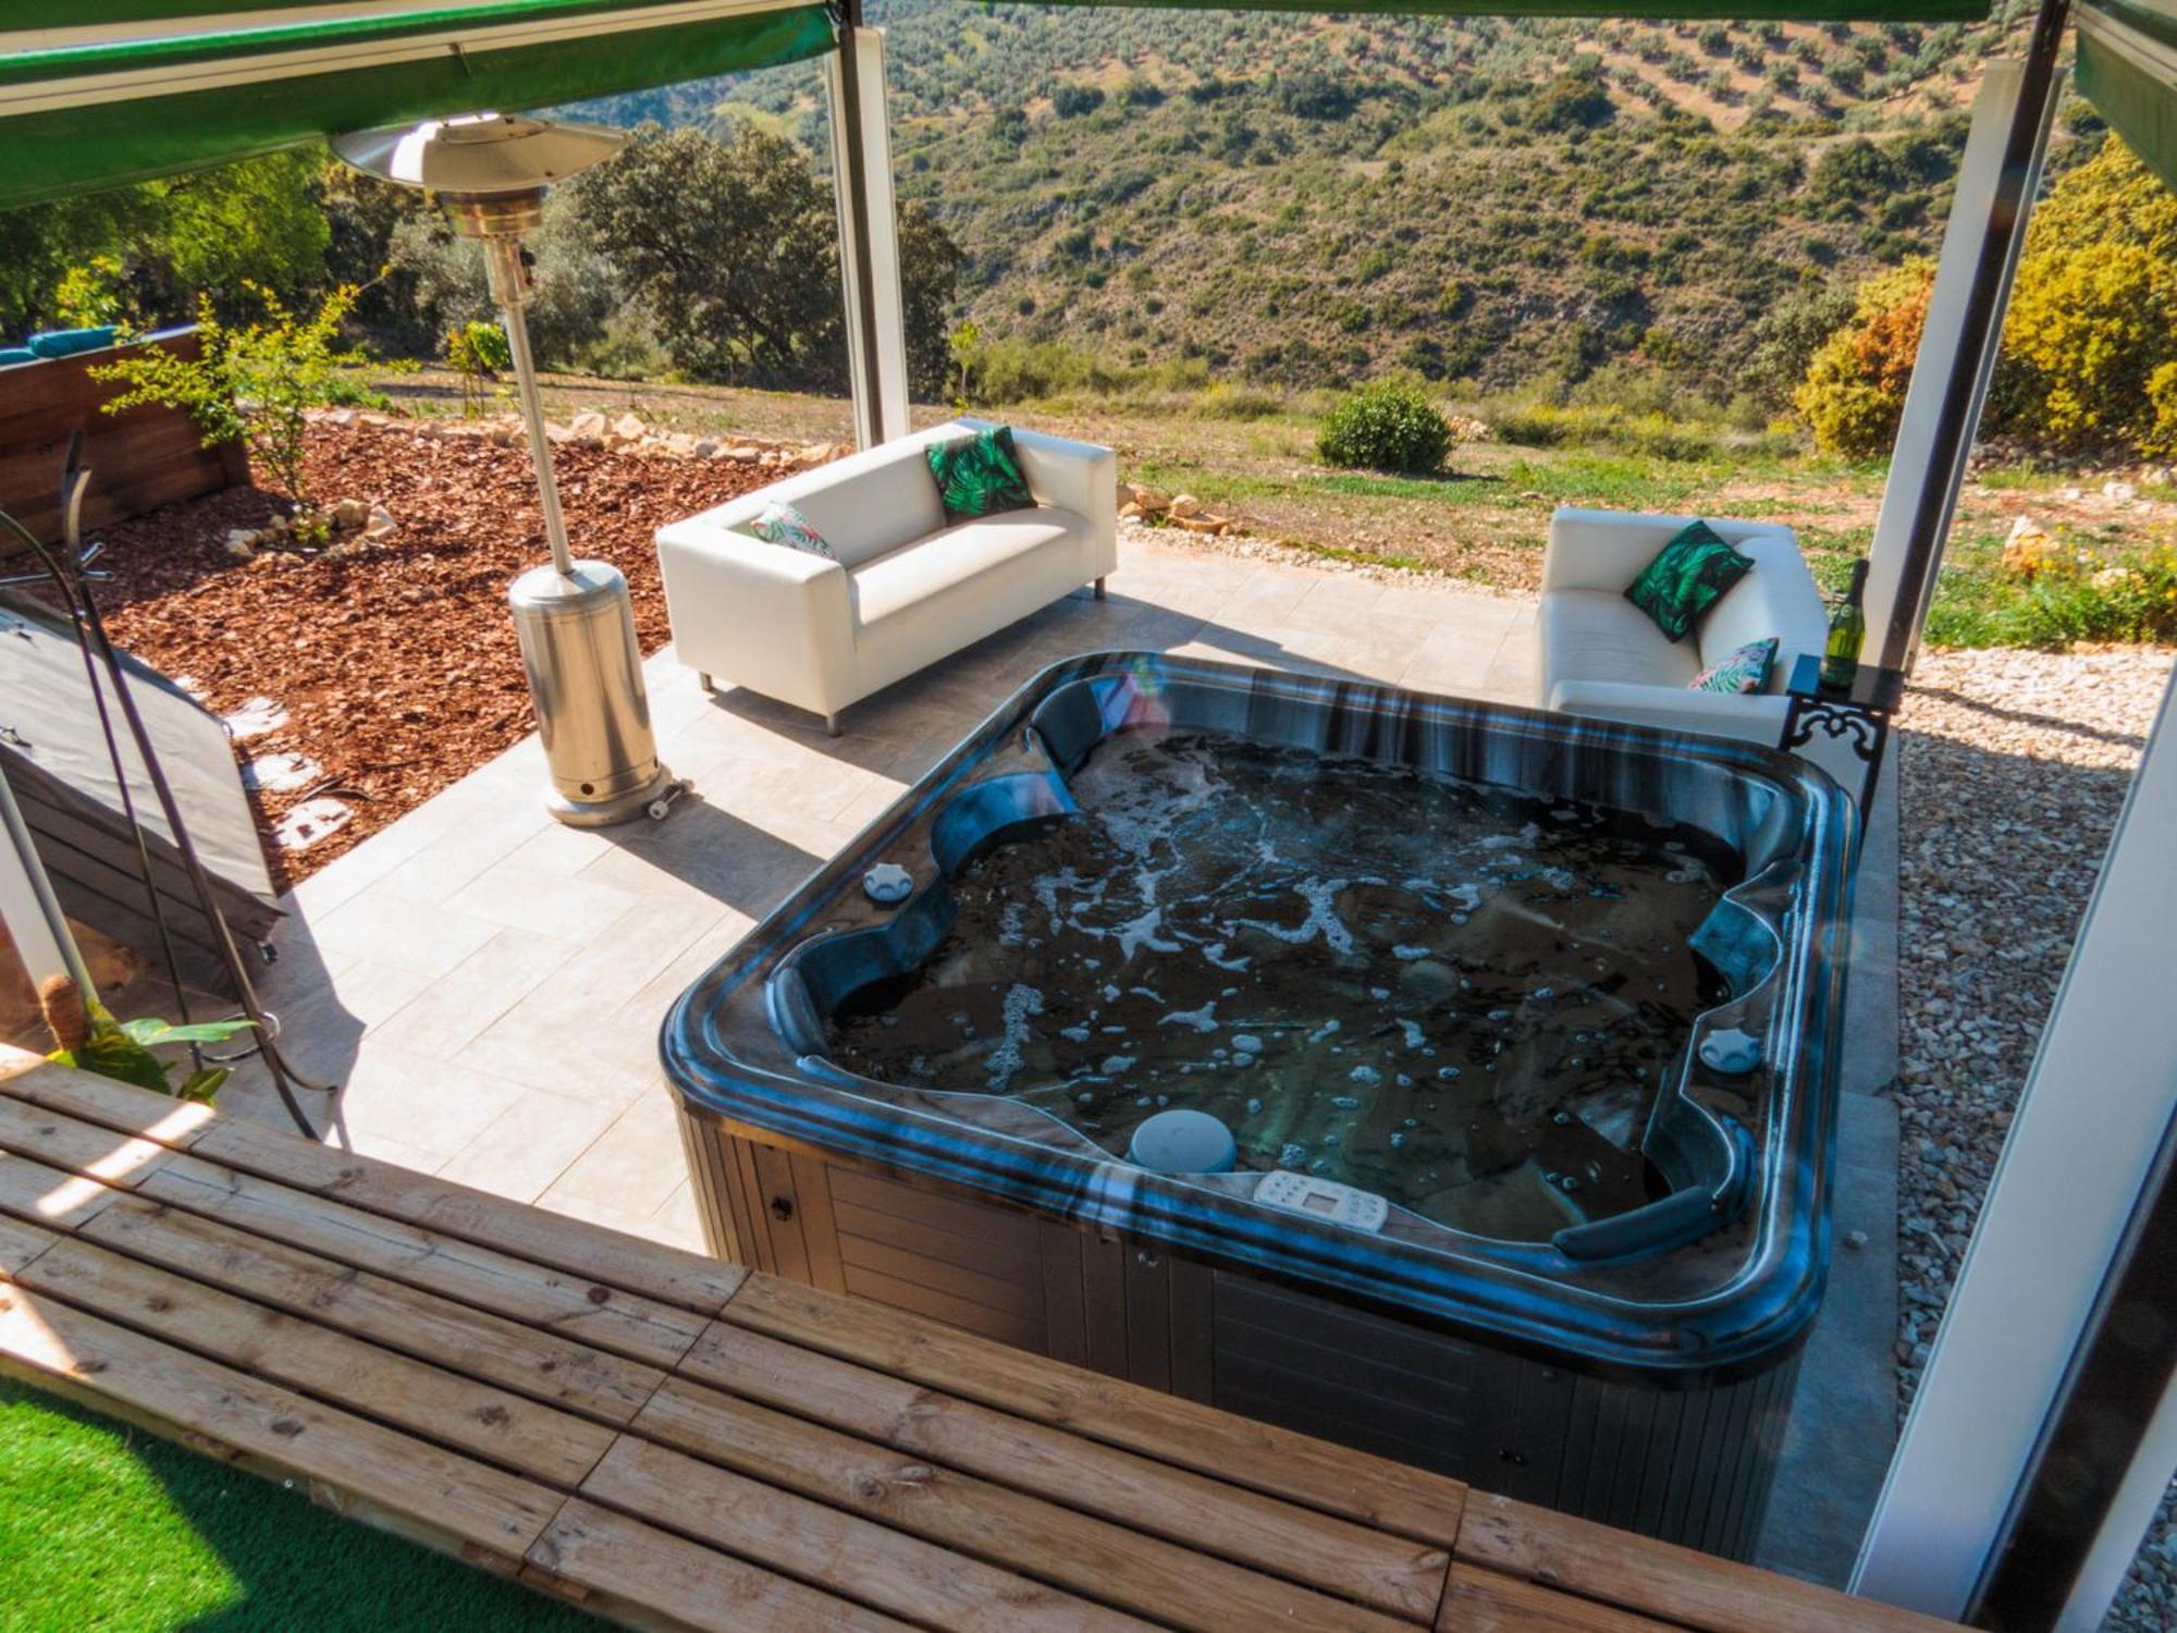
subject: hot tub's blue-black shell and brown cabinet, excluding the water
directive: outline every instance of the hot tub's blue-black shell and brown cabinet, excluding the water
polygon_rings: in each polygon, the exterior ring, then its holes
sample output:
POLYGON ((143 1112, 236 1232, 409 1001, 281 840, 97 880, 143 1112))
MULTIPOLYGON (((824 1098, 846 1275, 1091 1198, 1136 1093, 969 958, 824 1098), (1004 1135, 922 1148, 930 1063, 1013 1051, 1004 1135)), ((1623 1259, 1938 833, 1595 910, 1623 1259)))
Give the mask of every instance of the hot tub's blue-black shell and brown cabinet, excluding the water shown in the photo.
POLYGON ((1145 653, 1069 660, 675 1004, 662 1054, 710 1245, 1744 1559, 1829 1265, 1850 840, 1835 784, 1744 742, 1145 653), (1369 760, 1628 812, 1724 858, 1687 938, 1713 1002, 1657 1056, 1622 1137, 1650 1200, 1572 1211, 1541 1239, 1380 1198, 1372 1217, 1321 1217, 1265 1189, 1260 1154, 1156 1171, 1065 1106, 834 1060, 829 1017, 882 1006, 949 945, 951 880, 997 840, 1056 832, 1080 810, 1071 779, 1134 732, 1321 756, 1328 779, 1369 760), (906 901, 864 895, 880 864, 906 869, 906 901))

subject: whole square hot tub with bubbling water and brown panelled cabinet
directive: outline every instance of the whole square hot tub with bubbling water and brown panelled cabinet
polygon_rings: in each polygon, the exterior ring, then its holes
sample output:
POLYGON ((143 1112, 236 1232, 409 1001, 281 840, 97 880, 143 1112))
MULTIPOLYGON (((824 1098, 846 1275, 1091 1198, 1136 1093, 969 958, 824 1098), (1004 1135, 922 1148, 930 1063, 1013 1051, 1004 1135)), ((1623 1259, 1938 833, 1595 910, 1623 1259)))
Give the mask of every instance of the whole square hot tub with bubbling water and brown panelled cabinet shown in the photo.
POLYGON ((673 1008, 710 1243, 1744 1557, 1850 825, 1750 745, 1058 664, 673 1008))

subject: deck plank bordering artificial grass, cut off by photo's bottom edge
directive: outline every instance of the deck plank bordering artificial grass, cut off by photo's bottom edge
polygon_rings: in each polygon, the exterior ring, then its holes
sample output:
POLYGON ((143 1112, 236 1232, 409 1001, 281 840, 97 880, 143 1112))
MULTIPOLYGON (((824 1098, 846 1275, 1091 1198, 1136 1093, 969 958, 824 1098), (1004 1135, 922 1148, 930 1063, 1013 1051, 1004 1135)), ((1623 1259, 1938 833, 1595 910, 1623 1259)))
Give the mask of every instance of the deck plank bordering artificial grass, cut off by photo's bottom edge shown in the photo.
POLYGON ((901 1633, 908 1622, 570 1500, 529 1548, 522 1581, 660 1633, 901 1633))

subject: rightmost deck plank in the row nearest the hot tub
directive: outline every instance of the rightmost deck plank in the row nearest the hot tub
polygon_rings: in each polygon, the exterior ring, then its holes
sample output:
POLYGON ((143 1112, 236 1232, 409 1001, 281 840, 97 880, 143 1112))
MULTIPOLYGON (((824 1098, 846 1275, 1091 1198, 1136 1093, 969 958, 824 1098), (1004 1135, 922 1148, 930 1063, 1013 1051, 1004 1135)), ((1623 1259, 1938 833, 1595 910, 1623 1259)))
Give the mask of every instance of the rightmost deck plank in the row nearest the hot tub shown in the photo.
POLYGON ((1938 1633, 1953 1626, 1487 1491, 1467 1496, 1456 1559, 1702 1633, 1938 1633))

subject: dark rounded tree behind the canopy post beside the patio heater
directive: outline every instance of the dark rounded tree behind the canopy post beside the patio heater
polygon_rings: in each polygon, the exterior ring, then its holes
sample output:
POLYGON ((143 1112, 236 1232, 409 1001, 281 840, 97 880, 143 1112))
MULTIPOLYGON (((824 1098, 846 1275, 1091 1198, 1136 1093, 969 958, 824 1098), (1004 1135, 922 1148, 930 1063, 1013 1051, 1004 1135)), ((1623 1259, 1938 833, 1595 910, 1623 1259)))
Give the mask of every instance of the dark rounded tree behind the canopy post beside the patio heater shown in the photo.
MULTIPOLYGON (((832 196, 792 142, 644 126, 568 183, 573 218, 694 379, 842 390, 832 196)), ((960 250, 919 207, 899 213, 910 381, 943 392, 960 250)))

